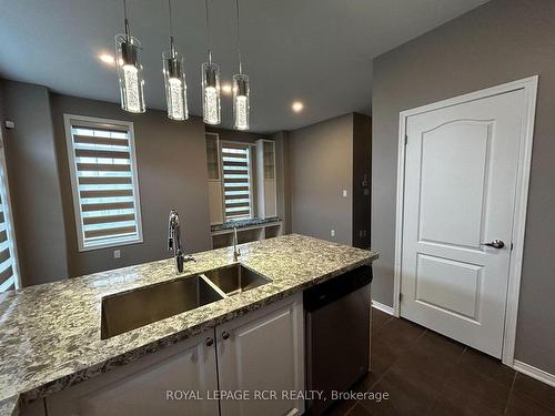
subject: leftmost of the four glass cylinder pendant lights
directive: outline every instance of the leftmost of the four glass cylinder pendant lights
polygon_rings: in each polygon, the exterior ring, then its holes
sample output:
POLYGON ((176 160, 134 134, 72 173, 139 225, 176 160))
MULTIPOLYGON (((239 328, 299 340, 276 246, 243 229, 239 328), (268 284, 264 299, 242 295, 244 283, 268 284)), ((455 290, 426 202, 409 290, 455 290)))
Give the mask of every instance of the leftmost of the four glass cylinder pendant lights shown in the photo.
POLYGON ((125 33, 115 35, 115 64, 120 81, 121 108, 130 113, 143 113, 144 79, 139 60, 141 42, 129 32, 128 8, 123 0, 125 33))

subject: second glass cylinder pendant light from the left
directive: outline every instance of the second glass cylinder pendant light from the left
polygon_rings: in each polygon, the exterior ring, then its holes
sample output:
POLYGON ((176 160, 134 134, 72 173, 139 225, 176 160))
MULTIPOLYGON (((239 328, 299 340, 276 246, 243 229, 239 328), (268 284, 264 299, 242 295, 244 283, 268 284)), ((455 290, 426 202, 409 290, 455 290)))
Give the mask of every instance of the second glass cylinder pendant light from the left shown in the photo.
POLYGON ((172 26, 172 0, 168 0, 170 13, 170 51, 162 53, 168 116, 172 120, 189 119, 184 59, 175 50, 172 26))

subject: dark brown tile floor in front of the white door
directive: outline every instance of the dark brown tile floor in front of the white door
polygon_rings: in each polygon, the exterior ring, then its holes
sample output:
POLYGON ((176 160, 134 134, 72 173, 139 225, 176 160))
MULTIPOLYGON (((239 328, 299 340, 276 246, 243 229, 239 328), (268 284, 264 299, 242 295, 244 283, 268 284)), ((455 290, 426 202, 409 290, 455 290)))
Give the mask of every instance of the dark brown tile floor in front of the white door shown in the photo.
POLYGON ((373 310, 372 372, 329 415, 555 415, 555 388, 405 319, 373 310))

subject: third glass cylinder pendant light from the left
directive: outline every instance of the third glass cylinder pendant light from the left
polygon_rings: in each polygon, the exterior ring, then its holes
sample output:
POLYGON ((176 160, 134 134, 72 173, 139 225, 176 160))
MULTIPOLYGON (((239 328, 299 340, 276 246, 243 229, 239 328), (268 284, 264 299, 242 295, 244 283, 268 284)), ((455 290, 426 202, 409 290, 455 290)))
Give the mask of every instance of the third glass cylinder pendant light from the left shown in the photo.
POLYGON ((202 70, 202 114, 204 123, 220 124, 220 65, 212 62, 212 50, 210 49, 210 16, 209 0, 204 0, 206 9, 206 48, 209 61, 201 67, 202 70))

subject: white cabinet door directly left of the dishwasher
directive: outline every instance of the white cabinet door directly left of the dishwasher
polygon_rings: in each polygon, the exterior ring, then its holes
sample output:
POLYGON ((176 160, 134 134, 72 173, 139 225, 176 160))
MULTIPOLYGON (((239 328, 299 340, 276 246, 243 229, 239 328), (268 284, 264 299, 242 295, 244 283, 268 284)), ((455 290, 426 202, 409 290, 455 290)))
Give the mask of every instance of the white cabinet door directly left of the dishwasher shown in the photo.
POLYGON ((282 396, 304 389, 302 294, 218 326, 216 339, 220 389, 250 395, 250 399, 222 399, 221 416, 304 412, 303 400, 282 396), (264 390, 275 392, 275 399, 256 399, 256 392, 264 390))

